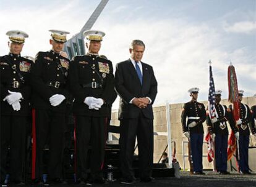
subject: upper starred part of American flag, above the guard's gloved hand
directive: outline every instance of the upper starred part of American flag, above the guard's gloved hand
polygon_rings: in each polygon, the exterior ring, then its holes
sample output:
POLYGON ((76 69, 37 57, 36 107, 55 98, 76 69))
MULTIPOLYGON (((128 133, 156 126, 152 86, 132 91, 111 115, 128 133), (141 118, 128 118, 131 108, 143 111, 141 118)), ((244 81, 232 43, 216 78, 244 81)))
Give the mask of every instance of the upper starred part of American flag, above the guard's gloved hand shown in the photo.
POLYGON ((210 73, 210 82, 209 82, 209 93, 208 93, 208 111, 211 118, 215 117, 215 85, 213 81, 213 72, 211 71, 211 61, 209 62, 209 73, 210 73))

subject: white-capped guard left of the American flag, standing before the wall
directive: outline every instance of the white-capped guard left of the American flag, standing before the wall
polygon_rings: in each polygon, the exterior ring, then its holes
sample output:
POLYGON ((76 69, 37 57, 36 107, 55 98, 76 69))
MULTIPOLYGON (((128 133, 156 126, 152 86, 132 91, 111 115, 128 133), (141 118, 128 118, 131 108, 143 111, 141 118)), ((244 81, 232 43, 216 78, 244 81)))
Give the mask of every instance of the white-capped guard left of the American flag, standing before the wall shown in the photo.
POLYGON ((206 119, 206 111, 203 103, 197 102, 199 89, 189 89, 191 101, 185 103, 181 114, 181 123, 184 135, 189 138, 194 174, 203 175, 203 122, 206 119))

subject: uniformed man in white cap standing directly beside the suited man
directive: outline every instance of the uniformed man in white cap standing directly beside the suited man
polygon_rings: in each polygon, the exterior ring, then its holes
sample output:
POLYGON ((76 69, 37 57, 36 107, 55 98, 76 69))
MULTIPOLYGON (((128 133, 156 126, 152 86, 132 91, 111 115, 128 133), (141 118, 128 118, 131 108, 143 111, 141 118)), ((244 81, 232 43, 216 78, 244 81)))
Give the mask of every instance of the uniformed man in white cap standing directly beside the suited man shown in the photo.
POLYGON ((85 31, 86 55, 77 56, 70 63, 70 90, 75 98, 75 133, 77 143, 77 177, 80 183, 87 183, 87 169, 90 167, 91 181, 105 183, 103 161, 105 157, 106 117, 114 92, 114 76, 111 61, 100 58, 98 52, 105 33, 85 31), (90 166, 87 162, 91 144, 90 166))

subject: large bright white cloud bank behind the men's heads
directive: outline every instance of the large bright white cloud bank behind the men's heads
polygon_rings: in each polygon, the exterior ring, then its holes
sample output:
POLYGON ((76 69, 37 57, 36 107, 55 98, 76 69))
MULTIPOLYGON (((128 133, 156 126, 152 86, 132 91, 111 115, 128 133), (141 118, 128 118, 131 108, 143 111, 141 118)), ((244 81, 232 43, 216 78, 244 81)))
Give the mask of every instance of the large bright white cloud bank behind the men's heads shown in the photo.
MULTIPOLYGON (((36 10, 23 7, 19 11, 12 11, 12 14, 9 10, 1 10, 0 40, 7 42, 7 30, 20 29, 30 34, 23 55, 35 56, 40 50, 49 50, 49 29, 67 30, 72 36, 85 24, 90 16, 88 12, 92 13, 92 10, 77 7, 77 2, 59 4, 58 10, 61 11, 57 12, 54 11, 53 5, 38 7, 36 10), (17 17, 19 22, 14 22, 17 17)), ((143 12, 141 10, 142 7, 139 11, 143 12)), ((246 91, 245 96, 255 94, 255 87, 252 87, 256 82, 255 54, 252 54, 247 46, 231 46, 228 39, 223 37, 220 27, 214 28, 210 22, 194 23, 182 18, 143 19, 137 17, 132 10, 129 11, 129 7, 121 6, 114 12, 103 12, 93 29, 106 32, 100 52, 106 55, 114 66, 129 58, 129 44, 132 39, 142 39, 145 42, 143 62, 153 66, 158 80, 155 105, 164 104, 166 101, 181 103, 189 100, 187 90, 190 87, 199 87, 199 100, 207 100, 210 59, 213 62, 216 88, 222 89, 223 95, 227 95, 227 70, 230 62, 236 67, 239 87, 246 91), (124 9, 126 18, 124 15, 117 17, 124 9)), ((250 30, 249 33, 254 31, 250 30)), ((7 54, 7 46, 6 49, 1 47, 0 54, 7 54)), ((114 103, 113 108, 117 107, 118 101, 114 103)))

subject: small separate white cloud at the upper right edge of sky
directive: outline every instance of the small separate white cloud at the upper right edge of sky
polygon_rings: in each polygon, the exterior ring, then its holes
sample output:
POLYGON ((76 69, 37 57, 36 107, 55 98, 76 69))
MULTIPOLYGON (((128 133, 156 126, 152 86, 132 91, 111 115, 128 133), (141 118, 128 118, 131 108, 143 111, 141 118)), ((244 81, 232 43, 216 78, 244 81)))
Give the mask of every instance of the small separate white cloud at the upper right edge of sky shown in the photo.
POLYGON ((244 34, 255 34, 256 22, 236 22, 233 25, 224 23, 223 28, 228 33, 244 33, 244 34))

